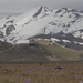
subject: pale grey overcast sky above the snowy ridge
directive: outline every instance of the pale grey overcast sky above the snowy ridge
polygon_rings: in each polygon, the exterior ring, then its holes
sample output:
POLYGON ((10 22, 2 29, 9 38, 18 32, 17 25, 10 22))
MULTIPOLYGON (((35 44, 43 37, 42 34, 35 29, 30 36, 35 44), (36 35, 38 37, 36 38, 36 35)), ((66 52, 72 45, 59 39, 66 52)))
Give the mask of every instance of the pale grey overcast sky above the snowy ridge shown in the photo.
POLYGON ((83 0, 0 0, 0 17, 21 14, 40 6, 49 9, 72 8, 80 11, 83 10, 83 0))

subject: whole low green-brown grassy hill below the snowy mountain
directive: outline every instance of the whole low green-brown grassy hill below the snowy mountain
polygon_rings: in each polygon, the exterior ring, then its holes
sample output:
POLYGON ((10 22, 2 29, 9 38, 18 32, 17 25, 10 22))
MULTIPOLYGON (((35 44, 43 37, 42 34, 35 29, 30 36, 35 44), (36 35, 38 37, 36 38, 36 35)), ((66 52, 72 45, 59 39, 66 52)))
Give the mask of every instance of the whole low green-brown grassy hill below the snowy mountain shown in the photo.
POLYGON ((0 61, 82 61, 83 53, 59 44, 17 44, 0 41, 0 61), (55 55, 55 58, 54 58, 55 55))

